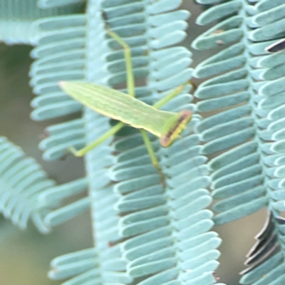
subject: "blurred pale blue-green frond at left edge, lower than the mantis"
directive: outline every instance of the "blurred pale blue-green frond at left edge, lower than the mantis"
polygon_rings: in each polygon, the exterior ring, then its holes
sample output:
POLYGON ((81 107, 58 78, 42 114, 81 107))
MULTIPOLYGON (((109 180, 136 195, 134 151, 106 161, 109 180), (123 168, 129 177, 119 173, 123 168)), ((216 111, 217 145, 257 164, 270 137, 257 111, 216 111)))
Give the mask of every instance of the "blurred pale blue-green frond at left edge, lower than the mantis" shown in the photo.
POLYGON ((61 207, 63 199, 86 190, 86 179, 56 186, 40 165, 4 137, 0 138, 0 186, 1 213, 20 229, 26 229, 28 219, 32 219, 38 230, 46 234, 90 204, 87 197, 61 207))

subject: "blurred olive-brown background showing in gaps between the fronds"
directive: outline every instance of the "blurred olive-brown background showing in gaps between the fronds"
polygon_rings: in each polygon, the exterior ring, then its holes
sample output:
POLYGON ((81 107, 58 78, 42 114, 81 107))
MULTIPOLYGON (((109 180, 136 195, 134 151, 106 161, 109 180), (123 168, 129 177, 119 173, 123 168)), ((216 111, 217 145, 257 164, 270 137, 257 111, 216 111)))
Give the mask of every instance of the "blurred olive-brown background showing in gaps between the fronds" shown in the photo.
MULTIPOLYGON (((183 8, 192 12, 189 37, 185 41, 185 45, 189 47, 192 39, 208 27, 194 26, 195 18, 201 11, 199 5, 185 1, 183 8)), ((31 47, 28 46, 6 46, 0 43, 0 135, 20 145, 27 155, 34 157, 43 166, 49 177, 61 184, 83 176, 83 160, 68 157, 57 162, 45 162, 41 159, 38 142, 44 128, 59 120, 42 123, 33 122, 29 118, 29 104, 33 98, 28 86, 28 70, 32 62, 29 58, 30 51, 31 47)), ((193 53, 192 67, 213 51, 193 53)), ((264 224, 265 215, 264 210, 215 228, 224 240, 219 248, 222 257, 217 271, 221 282, 228 285, 239 284, 238 273, 244 269, 245 254, 254 244, 254 236, 264 224)), ((28 230, 20 231, 3 217, 0 217, 0 227, 1 285, 61 284, 62 281, 51 281, 46 276, 51 259, 92 246, 88 212, 62 224, 46 236, 39 234, 32 224, 28 230)))

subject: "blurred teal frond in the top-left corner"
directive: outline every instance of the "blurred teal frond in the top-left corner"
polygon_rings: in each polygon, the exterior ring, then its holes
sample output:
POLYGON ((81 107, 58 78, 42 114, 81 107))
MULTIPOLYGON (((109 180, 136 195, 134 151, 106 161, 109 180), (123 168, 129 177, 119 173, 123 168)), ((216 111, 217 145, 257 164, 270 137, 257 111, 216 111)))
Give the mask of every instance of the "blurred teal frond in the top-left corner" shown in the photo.
POLYGON ((35 37, 38 35, 37 27, 33 26, 36 19, 72 14, 81 8, 76 4, 63 8, 43 10, 37 6, 37 1, 1 0, 0 41, 8 44, 25 43, 34 45, 35 37))

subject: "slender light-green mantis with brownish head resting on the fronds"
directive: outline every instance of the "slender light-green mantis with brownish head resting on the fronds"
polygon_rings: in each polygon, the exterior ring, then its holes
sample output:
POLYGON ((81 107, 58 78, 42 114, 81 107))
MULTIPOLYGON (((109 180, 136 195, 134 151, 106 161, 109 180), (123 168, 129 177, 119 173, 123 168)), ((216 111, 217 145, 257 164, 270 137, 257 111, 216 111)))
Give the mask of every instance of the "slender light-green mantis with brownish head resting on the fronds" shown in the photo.
POLYGON ((146 130, 160 138, 160 144, 163 147, 170 146, 172 142, 179 137, 182 130, 192 118, 190 110, 172 113, 158 110, 157 108, 162 107, 162 105, 169 100, 179 95, 188 83, 179 86, 172 91, 172 93, 166 95, 152 106, 136 99, 130 47, 113 31, 108 31, 108 34, 115 38, 124 49, 128 94, 106 86, 85 82, 61 81, 59 86, 68 95, 83 105, 86 105, 88 108, 120 122, 83 149, 76 150, 74 147, 71 147, 70 150, 76 156, 86 155, 89 150, 100 145, 101 142, 108 139, 111 135, 114 135, 118 130, 123 128, 124 125, 130 125, 140 130, 147 147, 147 152, 150 154, 152 164, 160 170, 146 130))

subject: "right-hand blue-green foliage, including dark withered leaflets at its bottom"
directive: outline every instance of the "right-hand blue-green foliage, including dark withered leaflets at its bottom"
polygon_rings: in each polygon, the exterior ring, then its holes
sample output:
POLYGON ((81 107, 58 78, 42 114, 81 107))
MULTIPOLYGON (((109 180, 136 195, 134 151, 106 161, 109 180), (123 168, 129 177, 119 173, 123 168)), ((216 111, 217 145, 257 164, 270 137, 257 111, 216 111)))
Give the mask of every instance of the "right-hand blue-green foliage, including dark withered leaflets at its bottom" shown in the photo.
MULTIPOLYGON (((200 1, 215 4, 216 1, 200 1)), ((269 218, 257 236, 241 284, 284 283, 284 51, 265 48, 284 37, 284 1, 227 1, 199 16, 199 24, 218 24, 199 36, 199 49, 227 45, 197 66, 208 78, 195 95, 200 112, 219 110, 197 126, 206 143, 213 209, 217 224, 267 206, 269 218), (283 16, 282 16, 283 15, 283 16), (276 141, 276 142, 274 142, 276 141), (222 152, 222 154, 220 153, 222 152)))

